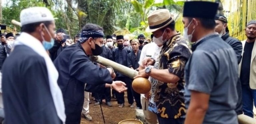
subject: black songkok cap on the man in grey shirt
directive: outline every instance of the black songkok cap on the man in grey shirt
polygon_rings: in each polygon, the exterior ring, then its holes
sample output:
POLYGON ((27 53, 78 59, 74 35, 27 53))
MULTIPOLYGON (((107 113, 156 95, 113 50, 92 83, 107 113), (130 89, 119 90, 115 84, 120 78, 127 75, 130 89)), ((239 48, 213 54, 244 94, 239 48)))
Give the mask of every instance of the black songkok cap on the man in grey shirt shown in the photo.
POLYGON ((188 1, 184 3, 183 17, 214 19, 219 3, 188 1))

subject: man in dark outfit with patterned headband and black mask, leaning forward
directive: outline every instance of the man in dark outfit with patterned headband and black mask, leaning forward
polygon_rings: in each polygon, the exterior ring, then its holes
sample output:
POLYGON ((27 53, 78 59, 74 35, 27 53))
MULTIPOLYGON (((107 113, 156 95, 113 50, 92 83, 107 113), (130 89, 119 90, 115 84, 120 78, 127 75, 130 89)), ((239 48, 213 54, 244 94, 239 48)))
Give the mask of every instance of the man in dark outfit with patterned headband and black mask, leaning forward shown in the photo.
POLYGON ((111 67, 101 68, 89 59, 90 55, 102 53, 103 37, 101 27, 86 24, 80 41, 64 49, 54 61, 59 72, 58 85, 63 94, 66 124, 80 124, 84 90, 93 93, 102 93, 105 87, 117 92, 126 90, 124 82, 113 82, 116 75, 111 67))

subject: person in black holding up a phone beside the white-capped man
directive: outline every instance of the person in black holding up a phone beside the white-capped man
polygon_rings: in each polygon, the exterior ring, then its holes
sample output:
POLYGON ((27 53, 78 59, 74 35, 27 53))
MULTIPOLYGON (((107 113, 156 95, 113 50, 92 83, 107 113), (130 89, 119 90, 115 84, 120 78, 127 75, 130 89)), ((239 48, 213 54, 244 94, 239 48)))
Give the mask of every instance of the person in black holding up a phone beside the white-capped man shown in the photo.
POLYGON ((65 43, 67 39, 64 39, 63 37, 63 35, 65 34, 67 33, 64 29, 60 28, 56 31, 54 46, 51 49, 49 49, 49 53, 52 61, 54 61, 57 58, 57 56, 60 54, 60 52, 67 47, 65 43))

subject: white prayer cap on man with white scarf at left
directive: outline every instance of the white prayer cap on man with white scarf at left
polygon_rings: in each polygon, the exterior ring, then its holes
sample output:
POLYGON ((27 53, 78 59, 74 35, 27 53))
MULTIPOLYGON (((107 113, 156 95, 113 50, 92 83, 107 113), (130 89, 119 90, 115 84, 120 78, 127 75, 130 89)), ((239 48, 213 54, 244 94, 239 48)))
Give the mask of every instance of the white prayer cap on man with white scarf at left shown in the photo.
POLYGON ((43 21, 54 21, 51 11, 46 7, 30 7, 20 13, 21 26, 43 21))

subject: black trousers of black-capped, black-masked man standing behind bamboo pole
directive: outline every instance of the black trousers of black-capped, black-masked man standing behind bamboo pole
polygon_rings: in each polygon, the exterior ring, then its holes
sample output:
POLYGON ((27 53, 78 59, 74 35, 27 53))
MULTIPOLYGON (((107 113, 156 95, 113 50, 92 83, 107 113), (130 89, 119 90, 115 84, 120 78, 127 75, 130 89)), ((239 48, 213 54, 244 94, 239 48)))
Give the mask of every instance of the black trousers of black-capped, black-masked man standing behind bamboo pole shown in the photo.
MULTIPOLYGON (((128 103, 133 104, 134 101, 131 79, 129 77, 116 77, 116 81, 122 81, 126 84, 128 103)), ((124 93, 116 92, 116 99, 118 104, 124 103, 124 93)))

